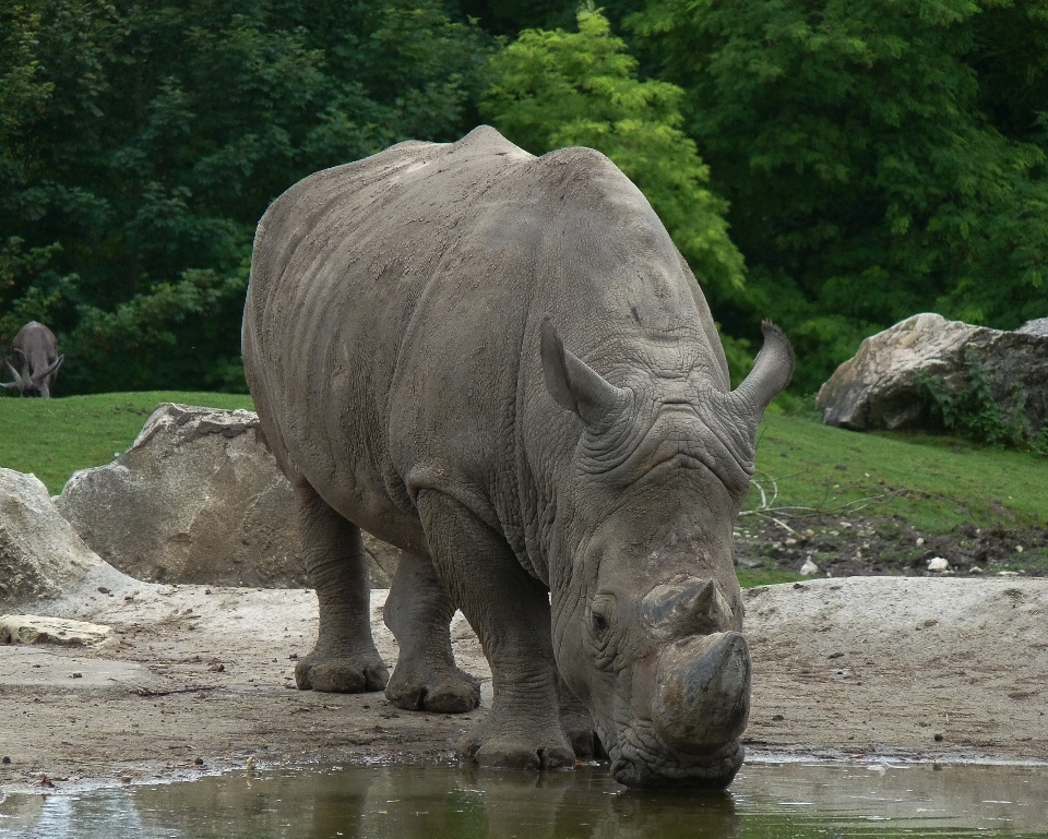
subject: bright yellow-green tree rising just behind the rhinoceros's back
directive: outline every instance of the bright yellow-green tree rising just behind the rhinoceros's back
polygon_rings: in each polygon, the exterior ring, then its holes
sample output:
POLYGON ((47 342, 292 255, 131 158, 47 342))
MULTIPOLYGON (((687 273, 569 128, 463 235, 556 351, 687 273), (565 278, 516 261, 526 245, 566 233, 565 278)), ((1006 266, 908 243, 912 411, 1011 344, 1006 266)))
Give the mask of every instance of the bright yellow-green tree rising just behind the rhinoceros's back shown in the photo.
MULTIPOLYGON (((714 307, 738 295, 743 263, 728 238, 725 201, 708 188, 710 171, 684 135, 683 91, 640 81, 636 60, 593 9, 579 31, 527 29, 489 62, 480 105, 510 140, 533 154, 583 145, 596 148, 640 188, 688 260, 714 307)), ((745 346, 728 341, 734 372, 745 346)))

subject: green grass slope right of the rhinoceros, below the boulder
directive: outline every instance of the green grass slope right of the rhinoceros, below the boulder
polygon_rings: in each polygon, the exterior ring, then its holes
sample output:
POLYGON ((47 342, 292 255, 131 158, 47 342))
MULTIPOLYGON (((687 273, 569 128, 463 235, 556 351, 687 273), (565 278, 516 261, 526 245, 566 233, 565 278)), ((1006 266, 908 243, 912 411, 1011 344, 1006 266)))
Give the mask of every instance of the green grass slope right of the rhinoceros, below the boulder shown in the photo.
MULTIPOLYGON (((975 522, 1044 525, 1048 458, 984 448, 955 438, 858 433, 805 416, 767 413, 758 434, 755 476, 774 506, 846 515, 897 515, 919 530, 975 522)), ((751 490, 748 507, 760 495, 751 490)), ((784 511, 788 512, 788 511, 784 511)))

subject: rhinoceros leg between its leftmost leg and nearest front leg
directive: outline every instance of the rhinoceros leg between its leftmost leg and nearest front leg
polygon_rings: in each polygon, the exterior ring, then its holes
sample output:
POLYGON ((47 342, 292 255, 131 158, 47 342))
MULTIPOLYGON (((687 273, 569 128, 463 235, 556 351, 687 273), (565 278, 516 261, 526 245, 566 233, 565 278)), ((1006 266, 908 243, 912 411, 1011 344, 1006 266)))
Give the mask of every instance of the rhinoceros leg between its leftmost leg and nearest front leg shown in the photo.
POLYGON ((385 687, 397 708, 463 714, 480 705, 480 683, 455 667, 449 633, 454 613, 429 558, 402 551, 383 610, 401 648, 385 687))

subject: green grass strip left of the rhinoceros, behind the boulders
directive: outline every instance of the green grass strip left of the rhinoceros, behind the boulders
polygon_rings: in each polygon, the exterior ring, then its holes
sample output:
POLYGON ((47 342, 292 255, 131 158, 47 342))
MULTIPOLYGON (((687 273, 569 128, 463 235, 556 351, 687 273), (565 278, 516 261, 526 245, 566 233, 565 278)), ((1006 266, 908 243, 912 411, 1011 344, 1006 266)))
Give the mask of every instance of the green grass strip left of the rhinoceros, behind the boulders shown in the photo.
POLYGON ((253 408, 250 396, 178 391, 0 398, 0 467, 34 472, 57 495, 74 471, 107 464, 130 446, 163 401, 253 408))

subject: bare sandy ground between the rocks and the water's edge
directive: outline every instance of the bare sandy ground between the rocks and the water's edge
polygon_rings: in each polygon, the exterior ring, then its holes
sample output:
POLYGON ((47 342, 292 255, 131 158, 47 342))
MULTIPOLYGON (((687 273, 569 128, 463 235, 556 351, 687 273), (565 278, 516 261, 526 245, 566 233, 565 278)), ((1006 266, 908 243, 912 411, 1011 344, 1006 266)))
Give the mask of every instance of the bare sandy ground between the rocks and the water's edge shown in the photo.
MULTIPOLYGON (((407 712, 381 694, 294 688, 312 646, 307 590, 122 578, 38 613, 114 627, 86 648, 0 646, 0 795, 317 762, 453 762, 490 706, 490 674, 456 616, 481 708, 407 712), (76 674, 80 675, 76 675, 76 674), (198 763, 199 762, 199 763, 198 763), (46 780, 45 780, 46 778, 46 780)), ((372 597, 379 650, 396 644, 372 597)), ((755 758, 1048 763, 1048 580, 849 577, 750 589, 755 758)), ((26 610, 28 611, 28 610, 26 610)))

